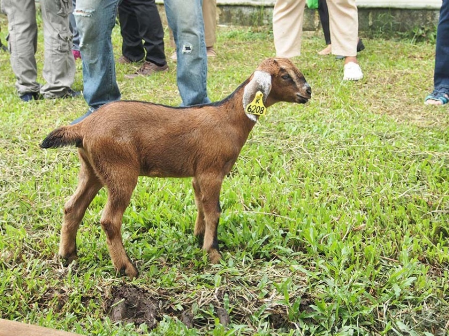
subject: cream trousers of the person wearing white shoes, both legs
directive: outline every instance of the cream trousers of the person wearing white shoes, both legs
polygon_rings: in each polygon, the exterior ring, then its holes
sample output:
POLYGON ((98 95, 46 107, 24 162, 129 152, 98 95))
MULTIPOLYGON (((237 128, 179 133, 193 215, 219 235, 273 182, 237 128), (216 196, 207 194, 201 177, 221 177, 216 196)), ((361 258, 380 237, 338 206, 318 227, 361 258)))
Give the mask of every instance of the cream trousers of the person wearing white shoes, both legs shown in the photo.
MULTIPOLYGON (((355 0, 327 0, 332 53, 357 56, 359 19, 355 0)), ((276 56, 301 54, 305 0, 277 0, 273 10, 276 56)))

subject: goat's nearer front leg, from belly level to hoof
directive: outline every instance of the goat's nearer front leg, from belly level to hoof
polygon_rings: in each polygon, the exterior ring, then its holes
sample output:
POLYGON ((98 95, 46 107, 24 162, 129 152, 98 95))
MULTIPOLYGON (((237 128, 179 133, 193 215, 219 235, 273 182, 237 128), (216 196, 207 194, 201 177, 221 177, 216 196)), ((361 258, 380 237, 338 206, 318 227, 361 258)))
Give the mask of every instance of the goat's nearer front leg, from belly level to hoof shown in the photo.
POLYGON ((220 221, 220 190, 222 177, 211 176, 198 179, 204 212, 204 242, 203 250, 209 254, 209 260, 216 264, 220 262, 222 255, 219 251, 217 229, 220 221))

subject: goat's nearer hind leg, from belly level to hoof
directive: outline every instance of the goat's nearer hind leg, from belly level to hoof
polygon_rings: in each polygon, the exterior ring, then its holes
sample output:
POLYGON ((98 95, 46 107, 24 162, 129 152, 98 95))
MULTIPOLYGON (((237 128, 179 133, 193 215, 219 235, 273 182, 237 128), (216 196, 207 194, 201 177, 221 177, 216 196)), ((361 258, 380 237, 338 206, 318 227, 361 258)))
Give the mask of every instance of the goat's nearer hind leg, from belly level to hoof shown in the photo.
POLYGON ((131 279, 137 277, 139 272, 131 263, 123 247, 121 227, 123 213, 129 205, 131 194, 137 184, 135 179, 122 179, 120 185, 107 184, 108 201, 101 217, 100 223, 106 233, 106 242, 108 244, 109 254, 115 268, 122 275, 127 275, 131 279))

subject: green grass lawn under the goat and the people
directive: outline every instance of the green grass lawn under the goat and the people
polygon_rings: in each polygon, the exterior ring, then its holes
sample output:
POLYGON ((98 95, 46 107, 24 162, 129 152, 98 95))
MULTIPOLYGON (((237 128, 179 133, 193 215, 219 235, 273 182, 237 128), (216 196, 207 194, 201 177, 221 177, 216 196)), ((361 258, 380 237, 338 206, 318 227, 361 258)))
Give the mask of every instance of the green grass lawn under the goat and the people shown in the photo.
MULTIPOLYGON (((113 42, 118 58, 118 28, 113 42)), ((123 225, 141 273, 131 283, 114 271, 99 225, 104 190, 80 227, 79 259, 63 267, 55 257, 79 163, 74 148, 38 145, 87 106, 20 102, 0 53, 0 318, 85 335, 448 335, 449 110, 423 105, 435 46, 364 43, 365 78, 349 83, 341 61, 316 54, 322 37, 304 36, 294 62, 312 100, 271 107, 250 134, 222 189, 220 265, 194 239, 190 180, 139 181, 123 225), (124 285, 159 303, 154 329, 109 318, 124 285)), ((274 55, 269 28, 219 27, 216 48, 213 101, 274 55)), ((42 55, 39 35, 39 69, 42 55)), ((122 98, 180 104, 169 66, 127 80, 135 68, 117 64, 122 98)), ((82 89, 80 63, 73 87, 82 89)))

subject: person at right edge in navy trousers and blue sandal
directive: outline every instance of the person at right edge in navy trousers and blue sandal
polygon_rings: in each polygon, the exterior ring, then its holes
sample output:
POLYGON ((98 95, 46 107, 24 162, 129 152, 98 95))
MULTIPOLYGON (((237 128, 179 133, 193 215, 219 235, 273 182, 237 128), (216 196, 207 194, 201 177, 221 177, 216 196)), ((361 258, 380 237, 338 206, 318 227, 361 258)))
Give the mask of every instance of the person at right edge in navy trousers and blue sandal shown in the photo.
POLYGON ((443 0, 437 27, 434 91, 424 100, 426 105, 449 103, 449 0, 443 0))

